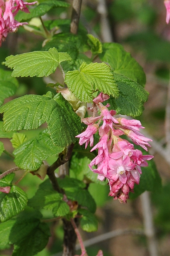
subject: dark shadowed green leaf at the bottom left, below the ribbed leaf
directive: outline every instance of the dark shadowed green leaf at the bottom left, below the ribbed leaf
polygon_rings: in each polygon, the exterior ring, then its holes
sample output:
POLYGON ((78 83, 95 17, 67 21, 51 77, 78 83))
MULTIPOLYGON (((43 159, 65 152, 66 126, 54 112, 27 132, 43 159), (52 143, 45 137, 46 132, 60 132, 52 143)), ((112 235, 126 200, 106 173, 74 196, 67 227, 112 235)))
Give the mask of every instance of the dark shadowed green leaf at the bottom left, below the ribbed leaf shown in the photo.
POLYGON ((13 256, 32 256, 44 249, 50 229, 40 218, 38 211, 24 211, 18 216, 9 236, 10 243, 14 244, 13 256))

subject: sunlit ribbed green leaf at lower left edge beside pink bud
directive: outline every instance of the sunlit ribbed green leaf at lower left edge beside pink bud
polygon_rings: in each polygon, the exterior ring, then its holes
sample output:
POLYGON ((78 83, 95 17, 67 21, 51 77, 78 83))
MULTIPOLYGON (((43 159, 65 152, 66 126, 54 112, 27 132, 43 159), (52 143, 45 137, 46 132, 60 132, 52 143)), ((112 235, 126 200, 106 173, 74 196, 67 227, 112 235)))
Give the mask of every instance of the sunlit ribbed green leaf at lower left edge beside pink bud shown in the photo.
MULTIPOLYGON (((0 186, 11 186, 15 174, 9 174, 0 180, 0 186)), ((21 212, 27 205, 27 195, 19 187, 11 186, 9 194, 0 192, 0 220, 7 221, 21 212)))

